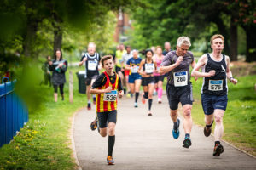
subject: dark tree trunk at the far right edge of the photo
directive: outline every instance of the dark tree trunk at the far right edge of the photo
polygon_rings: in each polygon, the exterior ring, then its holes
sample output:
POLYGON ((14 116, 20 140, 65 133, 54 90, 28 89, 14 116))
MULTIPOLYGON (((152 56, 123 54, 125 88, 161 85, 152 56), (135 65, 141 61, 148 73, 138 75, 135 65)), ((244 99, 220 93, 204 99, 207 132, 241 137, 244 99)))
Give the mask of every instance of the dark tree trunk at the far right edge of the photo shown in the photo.
POLYGON ((256 61, 256 26, 244 26, 247 35, 247 62, 256 61))

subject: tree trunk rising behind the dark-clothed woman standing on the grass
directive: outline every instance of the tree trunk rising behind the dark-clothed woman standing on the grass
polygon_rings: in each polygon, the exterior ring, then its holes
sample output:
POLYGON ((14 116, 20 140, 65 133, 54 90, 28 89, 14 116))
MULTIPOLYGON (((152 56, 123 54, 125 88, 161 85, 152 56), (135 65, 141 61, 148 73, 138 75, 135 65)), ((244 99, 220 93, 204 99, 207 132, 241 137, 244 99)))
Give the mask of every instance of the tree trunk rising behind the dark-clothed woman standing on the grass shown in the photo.
MULTIPOLYGON (((61 19, 57 16, 57 14, 54 14, 54 52, 56 48, 60 48, 61 49, 61 45, 62 45, 62 27, 61 27, 61 19)), ((54 54, 55 56, 55 54, 54 54)))

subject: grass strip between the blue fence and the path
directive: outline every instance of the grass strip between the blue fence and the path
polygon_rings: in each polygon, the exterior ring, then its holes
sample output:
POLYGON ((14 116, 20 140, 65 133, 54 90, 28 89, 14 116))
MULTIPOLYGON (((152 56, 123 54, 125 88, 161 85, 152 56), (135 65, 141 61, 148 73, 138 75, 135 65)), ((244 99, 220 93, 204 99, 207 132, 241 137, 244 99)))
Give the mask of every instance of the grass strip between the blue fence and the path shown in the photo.
MULTIPOLYGON (((80 68, 81 69, 81 68, 80 68)), ((38 86, 44 102, 37 111, 30 111, 29 122, 10 142, 0 148, 2 169, 75 169, 70 139, 70 117, 85 105, 84 94, 78 92, 78 78, 73 71, 73 104, 68 101, 68 84, 65 84, 66 99, 54 102, 53 88, 38 86)), ((68 80, 68 71, 66 73, 68 80)))

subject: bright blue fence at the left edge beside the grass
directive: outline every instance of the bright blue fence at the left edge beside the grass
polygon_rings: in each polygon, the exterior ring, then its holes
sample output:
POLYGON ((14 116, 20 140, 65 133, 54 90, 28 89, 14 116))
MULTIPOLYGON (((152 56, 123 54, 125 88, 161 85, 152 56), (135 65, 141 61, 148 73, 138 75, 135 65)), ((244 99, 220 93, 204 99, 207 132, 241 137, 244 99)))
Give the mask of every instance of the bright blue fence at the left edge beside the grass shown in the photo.
POLYGON ((0 84, 0 147, 8 144, 28 121, 26 105, 15 94, 14 82, 0 84))

